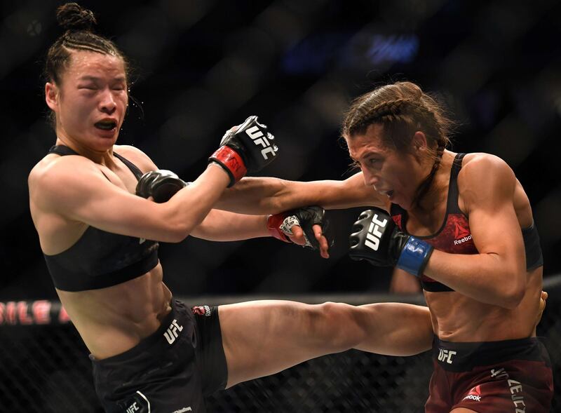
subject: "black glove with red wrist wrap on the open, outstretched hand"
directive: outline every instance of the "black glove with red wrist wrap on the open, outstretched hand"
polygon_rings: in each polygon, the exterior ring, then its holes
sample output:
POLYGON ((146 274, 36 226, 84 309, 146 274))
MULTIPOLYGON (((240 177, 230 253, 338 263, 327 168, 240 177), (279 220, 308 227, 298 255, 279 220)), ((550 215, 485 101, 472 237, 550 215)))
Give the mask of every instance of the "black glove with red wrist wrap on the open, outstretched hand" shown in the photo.
POLYGON ((306 247, 319 250, 320 245, 313 233, 312 226, 321 226, 323 236, 327 238, 329 246, 333 245, 333 236, 330 233, 329 220, 325 217, 325 210, 318 206, 297 208, 280 214, 269 215, 267 218, 267 229, 271 236, 290 243, 288 235, 292 235, 292 226, 298 225, 304 231, 306 247))

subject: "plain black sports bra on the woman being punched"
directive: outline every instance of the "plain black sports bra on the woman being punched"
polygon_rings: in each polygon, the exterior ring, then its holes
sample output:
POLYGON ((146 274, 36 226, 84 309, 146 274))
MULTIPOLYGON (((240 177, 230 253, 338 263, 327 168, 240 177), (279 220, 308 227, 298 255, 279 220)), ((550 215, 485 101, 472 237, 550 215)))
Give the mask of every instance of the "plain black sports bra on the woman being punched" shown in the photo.
MULTIPOLYGON (((49 154, 79 155, 64 145, 50 148, 49 154)), ((113 154, 140 179, 142 172, 136 165, 113 154)), ((158 264, 158 243, 89 226, 72 247, 44 257, 59 290, 95 290, 124 283, 153 269, 158 264)))

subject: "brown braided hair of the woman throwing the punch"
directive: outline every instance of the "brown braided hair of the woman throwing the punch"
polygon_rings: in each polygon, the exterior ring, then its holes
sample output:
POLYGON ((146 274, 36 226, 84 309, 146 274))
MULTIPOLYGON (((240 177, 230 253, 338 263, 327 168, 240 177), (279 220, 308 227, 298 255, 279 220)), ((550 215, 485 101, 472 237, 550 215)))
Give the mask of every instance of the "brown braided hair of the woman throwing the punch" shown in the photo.
POLYGON ((396 151, 412 151, 414 133, 421 130, 427 138, 433 157, 431 172, 417 188, 417 205, 434 180, 442 161, 442 154, 450 144, 453 123, 435 99, 410 82, 381 86, 358 97, 346 112, 342 135, 351 138, 366 133, 372 124, 383 126, 382 142, 396 151))

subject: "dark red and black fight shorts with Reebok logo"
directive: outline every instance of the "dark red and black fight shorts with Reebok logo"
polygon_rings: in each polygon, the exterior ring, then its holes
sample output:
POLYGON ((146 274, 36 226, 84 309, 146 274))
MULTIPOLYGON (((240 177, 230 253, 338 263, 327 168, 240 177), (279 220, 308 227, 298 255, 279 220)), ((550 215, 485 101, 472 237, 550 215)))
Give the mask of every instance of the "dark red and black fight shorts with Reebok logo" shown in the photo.
POLYGON ((426 413, 457 407, 485 413, 548 413, 553 372, 535 337, 452 343, 435 337, 426 413))

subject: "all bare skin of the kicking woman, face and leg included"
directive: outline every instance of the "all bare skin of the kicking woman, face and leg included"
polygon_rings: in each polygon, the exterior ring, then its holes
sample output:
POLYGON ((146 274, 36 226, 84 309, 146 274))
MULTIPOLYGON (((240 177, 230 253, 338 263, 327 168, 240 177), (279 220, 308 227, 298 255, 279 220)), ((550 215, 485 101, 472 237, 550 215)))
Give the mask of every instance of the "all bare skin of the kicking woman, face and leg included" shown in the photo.
MULTIPOLYGON (((46 83, 56 144, 80 156, 48 154, 29 173, 29 205, 43 252, 68 250, 88 226, 161 242, 180 242, 189 235, 213 241, 270 236, 266 215, 256 214, 280 211, 255 208, 250 198, 236 196, 231 207, 223 205, 232 212, 212 209, 229 184, 217 165, 210 164, 168 202, 135 196, 137 179, 114 151, 142 172, 157 168, 142 151, 116 145, 128 104, 126 90, 121 57, 83 50, 72 52, 59 83, 46 83)), ((316 238, 326 252, 327 241, 318 228, 316 238)), ((296 233, 295 241, 302 243, 299 237, 296 233)), ((119 285, 57 292, 97 359, 123 353, 154 333, 169 313, 172 297, 159 263, 119 285)), ((219 317, 227 386, 353 347, 419 353, 430 348, 433 334, 428 309, 407 304, 246 302, 219 306, 219 317), (402 323, 396 327, 393 320, 402 323)))

